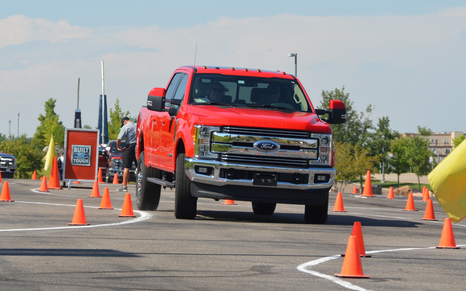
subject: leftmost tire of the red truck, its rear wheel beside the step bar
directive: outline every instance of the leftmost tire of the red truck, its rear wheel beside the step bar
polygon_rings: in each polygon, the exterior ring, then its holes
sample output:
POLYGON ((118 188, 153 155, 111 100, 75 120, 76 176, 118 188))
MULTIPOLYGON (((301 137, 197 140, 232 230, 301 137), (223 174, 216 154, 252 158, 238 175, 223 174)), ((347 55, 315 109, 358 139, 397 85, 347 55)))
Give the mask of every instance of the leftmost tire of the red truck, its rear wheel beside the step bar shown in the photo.
POLYGON ((136 177, 136 204, 139 210, 157 210, 160 201, 160 185, 147 181, 147 177, 160 179, 160 170, 147 168, 144 152, 139 154, 136 177))

